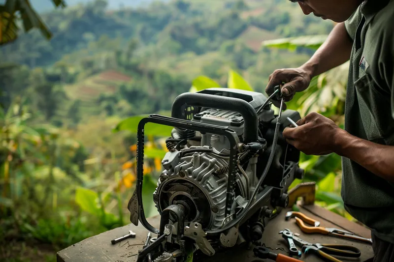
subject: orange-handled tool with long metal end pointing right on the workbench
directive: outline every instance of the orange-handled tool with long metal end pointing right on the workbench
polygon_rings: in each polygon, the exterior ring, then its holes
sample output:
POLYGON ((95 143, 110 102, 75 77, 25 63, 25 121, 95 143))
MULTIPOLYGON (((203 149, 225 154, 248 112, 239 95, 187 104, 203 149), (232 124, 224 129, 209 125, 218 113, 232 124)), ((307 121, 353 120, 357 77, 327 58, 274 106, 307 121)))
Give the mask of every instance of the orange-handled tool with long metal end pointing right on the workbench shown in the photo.
POLYGON ((345 230, 336 229, 336 228, 325 228, 325 227, 308 227, 298 217, 296 217, 296 223, 299 226, 299 228, 302 230, 302 232, 304 232, 304 233, 327 234, 327 235, 332 235, 332 236, 336 236, 336 237, 352 239, 352 240, 357 240, 357 241, 372 244, 371 238, 361 237, 361 236, 356 235, 355 233, 348 232, 345 230))

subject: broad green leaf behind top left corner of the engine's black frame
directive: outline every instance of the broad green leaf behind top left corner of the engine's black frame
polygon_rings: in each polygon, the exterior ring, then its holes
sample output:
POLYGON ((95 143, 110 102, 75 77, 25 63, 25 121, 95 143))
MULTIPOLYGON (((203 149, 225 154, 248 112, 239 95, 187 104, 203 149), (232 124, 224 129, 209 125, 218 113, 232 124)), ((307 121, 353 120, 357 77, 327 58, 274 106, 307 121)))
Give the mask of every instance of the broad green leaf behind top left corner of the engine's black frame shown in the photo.
MULTIPOLYGON (((127 130, 131 133, 136 134, 138 129, 138 123, 142 118, 148 115, 131 116, 121 121, 114 129, 115 132, 127 130)), ((171 134, 172 126, 161 125, 156 123, 147 123, 144 128, 145 135, 152 135, 158 137, 168 137, 171 134)))

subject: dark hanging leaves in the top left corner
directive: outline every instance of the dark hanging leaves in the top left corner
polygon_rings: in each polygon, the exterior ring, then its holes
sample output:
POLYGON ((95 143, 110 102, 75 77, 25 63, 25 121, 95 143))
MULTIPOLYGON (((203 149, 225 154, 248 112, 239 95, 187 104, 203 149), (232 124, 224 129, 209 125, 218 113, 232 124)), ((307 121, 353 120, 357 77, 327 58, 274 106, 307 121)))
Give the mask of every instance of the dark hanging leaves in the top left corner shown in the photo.
MULTIPOLYGON (((66 7, 64 0, 51 1, 56 7, 66 7)), ((19 23, 23 24, 25 32, 37 28, 46 39, 52 38, 52 33, 35 12, 29 0, 5 0, 4 4, 0 4, 0 45, 13 42, 18 38, 19 23)))

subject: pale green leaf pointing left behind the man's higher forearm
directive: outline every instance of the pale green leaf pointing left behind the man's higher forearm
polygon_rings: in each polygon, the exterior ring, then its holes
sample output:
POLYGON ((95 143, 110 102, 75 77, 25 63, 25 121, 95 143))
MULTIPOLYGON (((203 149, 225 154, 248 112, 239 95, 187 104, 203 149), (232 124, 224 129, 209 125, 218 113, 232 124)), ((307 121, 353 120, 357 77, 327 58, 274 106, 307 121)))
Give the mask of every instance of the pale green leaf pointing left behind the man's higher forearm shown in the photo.
POLYGON ((328 35, 305 35, 299 37, 288 37, 274 40, 265 40, 262 45, 264 47, 273 47, 279 49, 287 49, 294 51, 297 47, 308 47, 311 49, 318 49, 328 35))

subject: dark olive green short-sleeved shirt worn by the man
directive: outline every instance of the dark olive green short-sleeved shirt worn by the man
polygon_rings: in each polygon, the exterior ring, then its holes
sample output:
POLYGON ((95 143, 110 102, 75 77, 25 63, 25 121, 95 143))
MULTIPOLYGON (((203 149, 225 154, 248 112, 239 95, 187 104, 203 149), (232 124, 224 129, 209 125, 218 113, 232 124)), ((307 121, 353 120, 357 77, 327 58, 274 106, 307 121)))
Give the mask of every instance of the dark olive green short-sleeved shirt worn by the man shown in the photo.
MULTIPOLYGON (((354 41, 345 130, 394 146, 394 0, 364 1, 345 27, 354 41)), ((394 243, 394 183, 345 157, 342 170, 346 210, 376 236, 394 243)))

